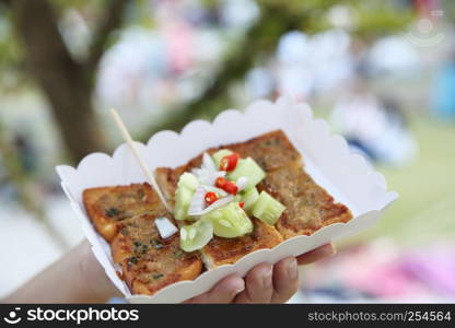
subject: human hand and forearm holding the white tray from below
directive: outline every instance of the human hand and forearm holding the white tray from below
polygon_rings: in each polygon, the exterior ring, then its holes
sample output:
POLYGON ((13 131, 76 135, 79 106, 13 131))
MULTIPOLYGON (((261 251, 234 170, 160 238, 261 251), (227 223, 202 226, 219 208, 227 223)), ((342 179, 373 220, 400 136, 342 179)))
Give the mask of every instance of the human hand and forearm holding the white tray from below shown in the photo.
MULTIPOLYGON (((261 263, 244 279, 230 276, 211 291, 186 303, 284 303, 299 288, 296 266, 312 263, 334 253, 332 245, 327 244, 296 258, 285 258, 275 266, 261 263)), ((121 293, 84 241, 1 302, 104 303, 114 296, 121 297, 121 293), (55 289, 56 285, 59 288, 55 289)))

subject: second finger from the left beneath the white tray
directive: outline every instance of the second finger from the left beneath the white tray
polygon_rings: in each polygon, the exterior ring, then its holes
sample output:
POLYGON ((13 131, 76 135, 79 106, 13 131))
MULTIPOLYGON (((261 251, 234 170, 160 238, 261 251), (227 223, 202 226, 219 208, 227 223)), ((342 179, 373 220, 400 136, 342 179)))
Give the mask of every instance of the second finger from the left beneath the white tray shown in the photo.
POLYGON ((235 297, 235 303, 269 303, 273 294, 273 267, 261 263, 245 277, 245 290, 235 297))

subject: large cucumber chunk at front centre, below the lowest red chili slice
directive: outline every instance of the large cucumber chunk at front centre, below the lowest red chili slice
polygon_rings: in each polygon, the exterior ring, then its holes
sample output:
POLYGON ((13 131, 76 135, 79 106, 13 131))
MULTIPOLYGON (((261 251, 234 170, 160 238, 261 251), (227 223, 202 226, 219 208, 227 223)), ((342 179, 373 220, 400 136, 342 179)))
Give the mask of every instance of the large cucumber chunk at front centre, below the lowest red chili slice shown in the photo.
POLYGON ((201 221, 211 222, 213 234, 224 238, 240 237, 253 231, 253 223, 238 202, 231 202, 207 213, 201 221))

